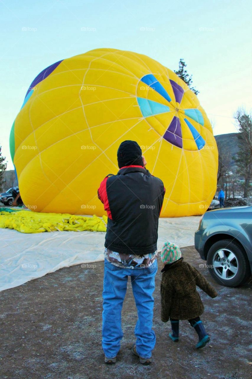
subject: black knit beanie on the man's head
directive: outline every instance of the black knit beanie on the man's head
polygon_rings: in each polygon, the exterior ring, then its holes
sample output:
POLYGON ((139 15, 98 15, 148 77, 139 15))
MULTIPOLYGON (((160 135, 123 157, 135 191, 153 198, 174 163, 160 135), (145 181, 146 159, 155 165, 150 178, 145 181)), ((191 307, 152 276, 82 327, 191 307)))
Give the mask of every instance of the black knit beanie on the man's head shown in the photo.
POLYGON ((117 150, 118 167, 143 166, 142 150, 135 141, 123 141, 117 150))

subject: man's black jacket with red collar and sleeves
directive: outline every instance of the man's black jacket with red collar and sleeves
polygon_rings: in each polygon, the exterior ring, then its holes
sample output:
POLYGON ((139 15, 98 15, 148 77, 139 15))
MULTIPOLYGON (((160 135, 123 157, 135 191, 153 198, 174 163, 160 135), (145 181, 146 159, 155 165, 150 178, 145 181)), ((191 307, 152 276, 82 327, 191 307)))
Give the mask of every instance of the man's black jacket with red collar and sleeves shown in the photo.
POLYGON ((125 166, 117 175, 107 175, 98 189, 108 215, 105 247, 135 255, 156 251, 164 195, 162 180, 142 166, 125 166))

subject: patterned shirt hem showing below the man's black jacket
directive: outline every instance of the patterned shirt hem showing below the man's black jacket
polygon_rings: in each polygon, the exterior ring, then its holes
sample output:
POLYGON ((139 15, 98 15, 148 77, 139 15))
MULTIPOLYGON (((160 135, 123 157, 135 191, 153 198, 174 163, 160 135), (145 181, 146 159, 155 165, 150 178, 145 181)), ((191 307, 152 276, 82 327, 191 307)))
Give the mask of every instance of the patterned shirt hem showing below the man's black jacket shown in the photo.
POLYGON ((147 268, 154 263, 157 258, 157 250, 151 254, 135 255, 121 254, 105 247, 104 259, 121 268, 147 268))

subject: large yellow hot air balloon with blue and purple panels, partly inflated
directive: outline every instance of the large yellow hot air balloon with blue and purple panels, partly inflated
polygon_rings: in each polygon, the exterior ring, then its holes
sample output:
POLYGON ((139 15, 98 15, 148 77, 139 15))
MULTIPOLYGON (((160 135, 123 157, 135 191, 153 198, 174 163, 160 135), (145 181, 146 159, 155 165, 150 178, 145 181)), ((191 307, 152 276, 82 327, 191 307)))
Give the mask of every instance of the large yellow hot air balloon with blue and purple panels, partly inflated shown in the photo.
POLYGON ((117 173, 126 139, 163 180, 162 217, 205 212, 218 150, 196 95, 157 61, 114 49, 56 62, 31 83, 10 136, 23 202, 40 212, 104 215, 97 188, 117 173))

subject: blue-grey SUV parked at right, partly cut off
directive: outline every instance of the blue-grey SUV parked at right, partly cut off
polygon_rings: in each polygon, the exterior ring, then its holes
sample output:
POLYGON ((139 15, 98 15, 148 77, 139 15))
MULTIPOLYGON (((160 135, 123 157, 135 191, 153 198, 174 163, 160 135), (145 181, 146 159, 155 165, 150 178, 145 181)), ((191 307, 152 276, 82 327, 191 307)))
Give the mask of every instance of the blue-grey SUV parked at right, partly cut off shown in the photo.
POLYGON ((252 271, 252 206, 206 212, 194 244, 216 282, 227 287, 247 282, 252 271))

